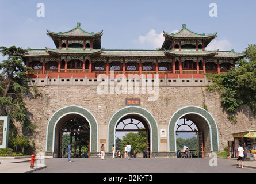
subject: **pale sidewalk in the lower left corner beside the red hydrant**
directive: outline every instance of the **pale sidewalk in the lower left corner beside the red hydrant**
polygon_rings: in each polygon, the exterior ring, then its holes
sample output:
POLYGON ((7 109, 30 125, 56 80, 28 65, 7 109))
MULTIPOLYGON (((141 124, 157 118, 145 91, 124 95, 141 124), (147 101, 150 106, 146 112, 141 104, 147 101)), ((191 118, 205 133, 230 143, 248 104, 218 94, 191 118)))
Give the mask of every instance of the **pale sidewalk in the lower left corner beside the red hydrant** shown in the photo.
MULTIPOLYGON (((47 157, 45 159, 52 158, 52 157, 47 157)), ((38 164, 37 166, 35 161, 35 167, 30 168, 30 163, 31 163, 31 158, 30 157, 19 157, 19 158, 14 158, 14 157, 0 157, 0 173, 31 173, 36 170, 40 170, 45 168, 45 165, 38 164)), ((40 160, 39 160, 40 163, 40 160)))

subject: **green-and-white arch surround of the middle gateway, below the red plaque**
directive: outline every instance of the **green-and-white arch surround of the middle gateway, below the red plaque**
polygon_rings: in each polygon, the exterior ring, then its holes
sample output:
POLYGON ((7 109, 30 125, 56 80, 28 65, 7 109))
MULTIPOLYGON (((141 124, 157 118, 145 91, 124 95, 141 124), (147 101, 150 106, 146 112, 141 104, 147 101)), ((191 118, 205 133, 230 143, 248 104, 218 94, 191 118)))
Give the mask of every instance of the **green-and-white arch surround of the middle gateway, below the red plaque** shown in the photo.
POLYGON ((112 145, 115 140, 116 126, 120 122, 121 118, 129 115, 135 115, 144 119, 147 122, 150 129, 150 151, 158 152, 158 125, 154 116, 144 108, 137 106, 128 106, 118 110, 110 119, 108 125, 108 151, 112 150, 112 145))

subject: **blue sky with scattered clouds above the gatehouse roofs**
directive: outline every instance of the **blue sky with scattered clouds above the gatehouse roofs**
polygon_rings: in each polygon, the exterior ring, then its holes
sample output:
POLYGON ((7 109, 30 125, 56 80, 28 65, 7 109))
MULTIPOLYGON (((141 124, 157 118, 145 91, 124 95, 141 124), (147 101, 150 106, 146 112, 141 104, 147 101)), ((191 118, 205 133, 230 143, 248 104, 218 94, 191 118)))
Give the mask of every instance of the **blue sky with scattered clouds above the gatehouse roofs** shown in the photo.
POLYGON ((105 49, 155 49, 162 32, 180 30, 182 24, 197 33, 215 33, 212 49, 242 52, 256 43, 256 1, 44 1, 0 0, 0 46, 55 48, 46 29, 66 32, 81 22, 87 32, 103 30, 105 49), (45 17, 37 17, 44 3, 45 17), (217 17, 209 16, 216 3, 217 17))

